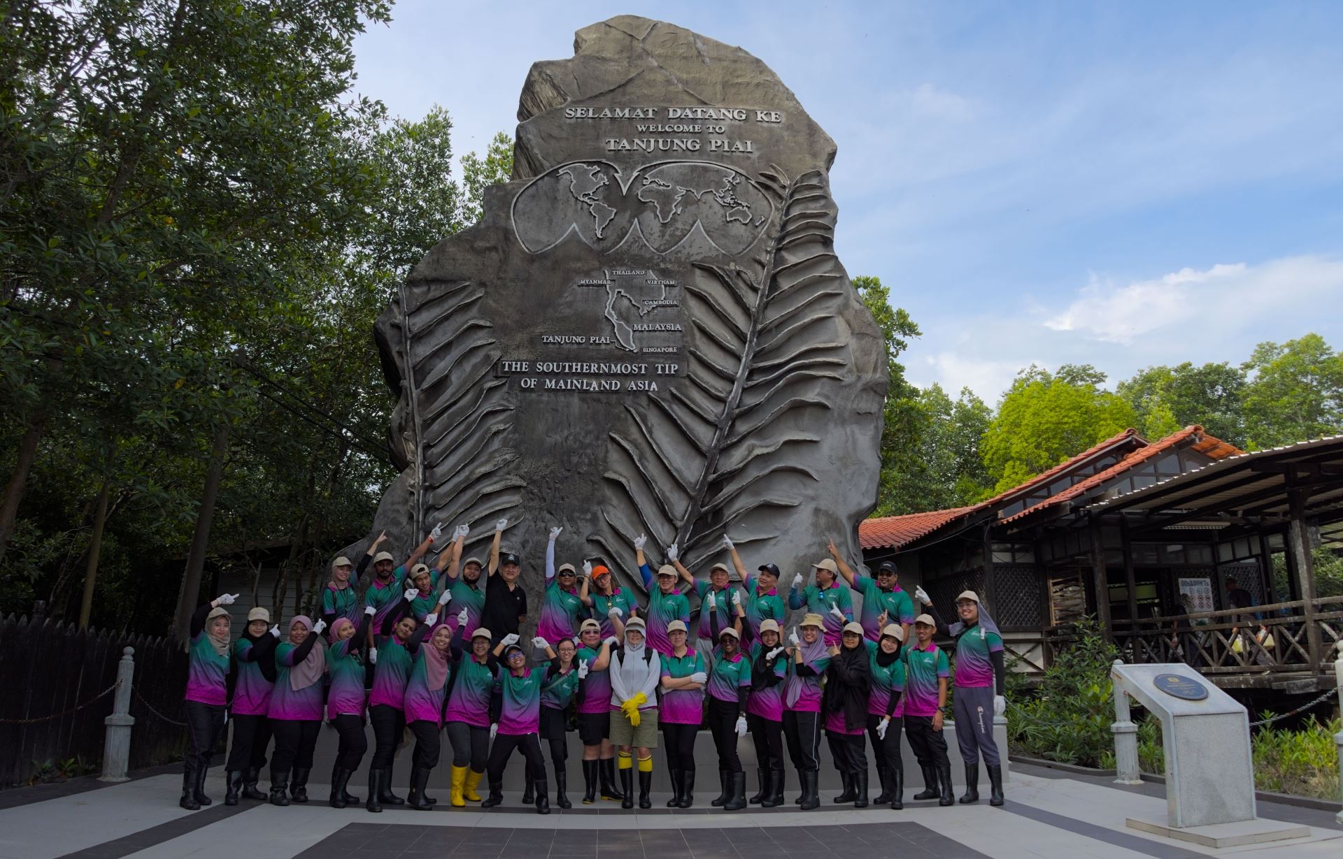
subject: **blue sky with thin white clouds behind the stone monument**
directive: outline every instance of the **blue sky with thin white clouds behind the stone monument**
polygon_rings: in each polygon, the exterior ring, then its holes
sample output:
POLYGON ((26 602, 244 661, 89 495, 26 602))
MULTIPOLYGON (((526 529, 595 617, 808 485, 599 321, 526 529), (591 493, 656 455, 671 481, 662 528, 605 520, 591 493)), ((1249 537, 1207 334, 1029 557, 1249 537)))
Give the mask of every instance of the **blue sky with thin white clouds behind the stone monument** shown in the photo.
POLYGON ((619 13, 740 44, 830 133, 837 250, 923 329, 916 384, 1343 348, 1343 4, 400 0, 359 90, 479 149, 619 13))

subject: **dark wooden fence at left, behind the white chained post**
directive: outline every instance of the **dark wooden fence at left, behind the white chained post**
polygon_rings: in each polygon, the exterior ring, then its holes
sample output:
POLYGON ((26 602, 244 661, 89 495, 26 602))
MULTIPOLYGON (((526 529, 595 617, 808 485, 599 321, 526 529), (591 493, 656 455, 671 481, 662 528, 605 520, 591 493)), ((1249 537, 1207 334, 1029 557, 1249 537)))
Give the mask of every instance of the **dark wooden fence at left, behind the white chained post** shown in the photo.
POLYGON ((97 769, 122 650, 134 648, 130 766, 181 757, 187 654, 169 638, 79 631, 42 616, 0 619, 0 785, 26 784, 48 761, 97 769))

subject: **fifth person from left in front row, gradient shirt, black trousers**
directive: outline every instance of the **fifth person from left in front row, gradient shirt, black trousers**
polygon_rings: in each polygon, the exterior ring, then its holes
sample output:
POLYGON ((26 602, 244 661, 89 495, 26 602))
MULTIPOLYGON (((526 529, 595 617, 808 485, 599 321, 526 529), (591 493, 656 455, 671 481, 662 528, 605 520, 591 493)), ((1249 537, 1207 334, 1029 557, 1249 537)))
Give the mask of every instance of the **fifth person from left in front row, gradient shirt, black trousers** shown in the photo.
POLYGON ((392 793, 392 761, 396 745, 406 730, 406 678, 411 670, 411 654, 406 643, 415 632, 414 615, 406 604, 415 599, 418 591, 408 589, 398 601, 395 611, 379 609, 373 617, 381 616, 377 648, 369 650, 369 658, 377 659, 373 672, 373 687, 368 694, 368 721, 373 723, 373 760, 368 765, 368 800, 364 808, 381 812, 383 805, 403 805, 406 800, 392 793), (375 654, 377 654, 375 656, 375 654))

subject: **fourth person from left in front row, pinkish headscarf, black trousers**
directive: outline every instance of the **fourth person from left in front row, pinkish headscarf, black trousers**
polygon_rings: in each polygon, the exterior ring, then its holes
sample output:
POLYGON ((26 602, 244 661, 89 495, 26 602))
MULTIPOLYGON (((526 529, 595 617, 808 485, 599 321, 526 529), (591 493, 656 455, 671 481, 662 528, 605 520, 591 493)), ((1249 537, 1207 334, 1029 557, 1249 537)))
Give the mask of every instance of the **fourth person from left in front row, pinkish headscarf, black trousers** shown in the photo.
POLYGON ((359 660, 359 651, 367 640, 368 623, 375 611, 372 605, 365 605, 357 627, 349 617, 337 617, 330 628, 326 674, 332 683, 326 691, 326 721, 340 736, 332 765, 332 795, 326 800, 332 808, 359 804, 359 797, 351 796, 345 788, 368 752, 364 737, 364 663, 359 660))

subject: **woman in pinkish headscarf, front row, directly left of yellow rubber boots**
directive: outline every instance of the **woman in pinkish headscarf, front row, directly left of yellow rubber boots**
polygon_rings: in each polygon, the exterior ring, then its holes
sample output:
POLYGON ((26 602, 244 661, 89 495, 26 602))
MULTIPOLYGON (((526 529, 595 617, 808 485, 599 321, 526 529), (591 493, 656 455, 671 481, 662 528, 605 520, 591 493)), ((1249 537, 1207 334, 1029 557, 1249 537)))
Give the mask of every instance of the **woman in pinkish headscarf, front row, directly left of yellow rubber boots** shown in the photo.
POLYGON ((406 642, 412 662, 410 674, 406 675, 403 711, 406 726, 415 734, 411 791, 406 796, 406 804, 415 811, 431 811, 438 804, 438 800, 424 793, 424 788, 430 773, 438 766, 438 734, 443 727, 443 699, 447 697, 447 678, 454 662, 455 627, 455 619, 453 623, 439 624, 438 615, 430 612, 406 642))

